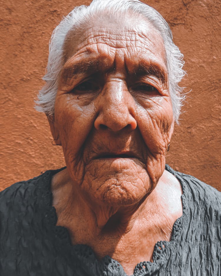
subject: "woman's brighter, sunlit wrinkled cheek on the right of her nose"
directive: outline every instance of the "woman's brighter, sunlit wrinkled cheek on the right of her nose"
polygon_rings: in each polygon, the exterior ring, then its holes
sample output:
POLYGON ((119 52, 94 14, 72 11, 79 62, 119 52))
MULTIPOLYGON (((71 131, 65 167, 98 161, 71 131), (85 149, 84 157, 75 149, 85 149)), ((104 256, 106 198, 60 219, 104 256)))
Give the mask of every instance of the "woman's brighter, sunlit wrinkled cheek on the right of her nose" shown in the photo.
POLYGON ((138 114, 138 127, 148 148, 146 170, 152 190, 165 169, 165 150, 173 122, 170 99, 160 97, 146 100, 139 105, 138 114))

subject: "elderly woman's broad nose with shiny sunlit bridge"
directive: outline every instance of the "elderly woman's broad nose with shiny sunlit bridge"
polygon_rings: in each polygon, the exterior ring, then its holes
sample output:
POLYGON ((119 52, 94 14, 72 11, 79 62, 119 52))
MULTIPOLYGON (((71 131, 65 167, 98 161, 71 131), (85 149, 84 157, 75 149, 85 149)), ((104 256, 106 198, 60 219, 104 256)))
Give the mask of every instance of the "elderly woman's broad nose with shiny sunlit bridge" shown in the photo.
POLYGON ((95 128, 97 130, 108 129, 113 132, 124 128, 136 129, 135 104, 127 85, 122 80, 106 83, 99 95, 95 128))

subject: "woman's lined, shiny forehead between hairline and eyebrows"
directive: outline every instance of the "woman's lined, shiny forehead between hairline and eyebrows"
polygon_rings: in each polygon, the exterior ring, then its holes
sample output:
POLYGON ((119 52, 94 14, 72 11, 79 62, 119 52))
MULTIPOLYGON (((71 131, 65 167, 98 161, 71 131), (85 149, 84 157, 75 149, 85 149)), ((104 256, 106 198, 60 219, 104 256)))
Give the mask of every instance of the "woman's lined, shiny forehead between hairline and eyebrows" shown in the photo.
POLYGON ((133 19, 96 21, 77 33, 70 31, 64 46, 66 61, 96 60, 154 62, 166 66, 164 43, 159 32, 147 21, 133 19))

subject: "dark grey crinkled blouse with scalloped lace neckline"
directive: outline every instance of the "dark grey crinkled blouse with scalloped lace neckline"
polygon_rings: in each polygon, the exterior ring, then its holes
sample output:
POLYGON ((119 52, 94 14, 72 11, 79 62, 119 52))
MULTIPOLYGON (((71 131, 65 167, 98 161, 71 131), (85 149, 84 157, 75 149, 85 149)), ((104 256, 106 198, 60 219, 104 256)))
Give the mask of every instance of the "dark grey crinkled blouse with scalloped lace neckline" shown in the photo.
MULTIPOLYGON (((183 215, 174 223, 171 241, 156 243, 154 262, 141 262, 134 275, 220 276, 221 193, 192 176, 166 169, 181 183, 183 215)), ((55 226, 50 183, 58 171, 15 183, 0 193, 0 275, 125 276, 117 261, 109 256, 98 261, 90 247, 71 245, 67 229, 55 226)))

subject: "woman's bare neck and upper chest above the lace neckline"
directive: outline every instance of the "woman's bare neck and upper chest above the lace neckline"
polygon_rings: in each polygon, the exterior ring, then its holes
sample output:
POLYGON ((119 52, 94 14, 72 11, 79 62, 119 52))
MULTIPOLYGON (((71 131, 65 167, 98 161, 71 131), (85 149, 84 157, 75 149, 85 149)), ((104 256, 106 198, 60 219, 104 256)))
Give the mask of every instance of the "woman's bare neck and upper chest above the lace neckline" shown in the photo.
POLYGON ((152 260, 157 241, 170 241, 173 224, 182 215, 182 189, 169 172, 148 196, 130 206, 88 202, 67 170, 53 177, 52 193, 57 225, 67 227, 72 244, 89 245, 98 259, 113 257, 129 275, 138 262, 152 260))

